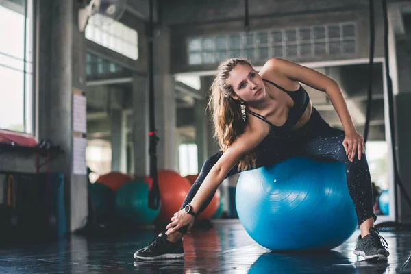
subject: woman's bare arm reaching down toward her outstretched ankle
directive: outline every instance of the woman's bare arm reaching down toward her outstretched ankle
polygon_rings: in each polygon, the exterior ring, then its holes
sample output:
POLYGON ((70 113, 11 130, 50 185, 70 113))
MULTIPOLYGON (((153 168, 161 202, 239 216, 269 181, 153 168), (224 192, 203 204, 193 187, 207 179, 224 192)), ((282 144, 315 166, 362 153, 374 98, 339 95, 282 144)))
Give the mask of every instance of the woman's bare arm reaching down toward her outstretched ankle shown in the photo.
MULTIPOLYGON (((267 134, 269 134, 269 127, 263 123, 265 122, 253 123, 254 127, 247 125, 245 132, 238 136, 237 140, 221 155, 221 158, 214 164, 190 202, 193 212, 198 212, 199 208, 201 208, 203 203, 210 197, 212 192, 219 187, 229 170, 241 160, 242 156, 257 147, 267 134)), ((194 222, 194 217, 186 214, 183 209, 177 212, 171 221, 172 222, 166 226, 166 229, 168 229, 166 234, 168 235, 173 234, 185 225, 188 225, 188 230, 190 230, 194 222)))

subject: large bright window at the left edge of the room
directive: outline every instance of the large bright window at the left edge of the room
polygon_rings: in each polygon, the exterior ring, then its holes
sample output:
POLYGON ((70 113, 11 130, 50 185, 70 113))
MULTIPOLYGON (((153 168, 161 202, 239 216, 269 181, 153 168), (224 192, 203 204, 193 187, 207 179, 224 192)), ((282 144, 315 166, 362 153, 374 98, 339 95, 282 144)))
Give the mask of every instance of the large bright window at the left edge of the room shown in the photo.
POLYGON ((0 128, 33 132, 32 0, 0 1, 0 128))

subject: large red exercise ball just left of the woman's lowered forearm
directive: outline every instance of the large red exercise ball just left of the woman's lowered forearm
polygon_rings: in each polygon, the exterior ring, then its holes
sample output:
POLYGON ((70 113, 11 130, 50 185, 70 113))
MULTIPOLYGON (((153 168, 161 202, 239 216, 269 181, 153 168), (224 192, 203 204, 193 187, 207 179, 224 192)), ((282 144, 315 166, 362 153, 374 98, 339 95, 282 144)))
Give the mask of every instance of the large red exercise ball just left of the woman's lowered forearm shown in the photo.
MULTIPOLYGON (((170 170, 158 171, 157 176, 161 208, 156 221, 170 223, 171 217, 179 211, 186 199, 191 187, 190 182, 179 173, 170 170)), ((146 181, 148 182, 148 178, 146 181)))

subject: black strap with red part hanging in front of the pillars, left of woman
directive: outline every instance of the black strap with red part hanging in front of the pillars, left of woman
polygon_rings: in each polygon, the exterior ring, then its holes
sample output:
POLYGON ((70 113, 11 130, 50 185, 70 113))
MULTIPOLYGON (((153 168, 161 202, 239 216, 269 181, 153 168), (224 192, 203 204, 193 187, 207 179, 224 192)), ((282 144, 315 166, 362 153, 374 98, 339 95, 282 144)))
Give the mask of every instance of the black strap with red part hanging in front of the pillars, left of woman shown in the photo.
POLYGON ((149 182, 149 208, 157 209, 160 205, 160 192, 157 178, 157 143, 160 140, 155 132, 155 108, 154 108, 154 47, 153 47, 153 0, 150 0, 149 8, 149 155, 150 155, 150 182, 149 182))

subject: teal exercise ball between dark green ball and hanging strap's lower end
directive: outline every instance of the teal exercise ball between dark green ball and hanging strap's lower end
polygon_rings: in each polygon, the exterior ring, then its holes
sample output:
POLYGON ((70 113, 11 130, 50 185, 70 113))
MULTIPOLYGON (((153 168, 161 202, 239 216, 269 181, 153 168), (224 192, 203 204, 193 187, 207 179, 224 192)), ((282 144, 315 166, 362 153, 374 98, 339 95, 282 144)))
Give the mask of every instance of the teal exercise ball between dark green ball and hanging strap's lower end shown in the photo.
POLYGON ((149 225, 160 212, 149 208, 149 185, 132 181, 121 186, 116 193, 116 213, 126 223, 149 225))

